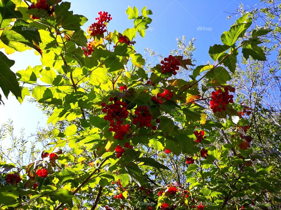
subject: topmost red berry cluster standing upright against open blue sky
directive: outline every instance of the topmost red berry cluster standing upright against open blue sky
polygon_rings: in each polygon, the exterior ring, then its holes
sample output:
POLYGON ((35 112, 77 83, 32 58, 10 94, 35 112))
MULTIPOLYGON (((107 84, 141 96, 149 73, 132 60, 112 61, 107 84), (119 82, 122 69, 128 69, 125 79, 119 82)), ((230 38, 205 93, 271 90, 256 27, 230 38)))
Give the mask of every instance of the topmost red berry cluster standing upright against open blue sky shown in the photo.
POLYGON ((109 22, 110 20, 112 20, 112 17, 110 17, 111 15, 108 14, 107 12, 102 13, 100 11, 98 14, 100 15, 100 17, 96 18, 96 20, 98 21, 96 23, 93 23, 89 27, 89 31, 92 31, 90 34, 91 36, 96 36, 96 35, 102 36, 102 34, 107 31, 105 29, 106 27, 105 22, 109 22))

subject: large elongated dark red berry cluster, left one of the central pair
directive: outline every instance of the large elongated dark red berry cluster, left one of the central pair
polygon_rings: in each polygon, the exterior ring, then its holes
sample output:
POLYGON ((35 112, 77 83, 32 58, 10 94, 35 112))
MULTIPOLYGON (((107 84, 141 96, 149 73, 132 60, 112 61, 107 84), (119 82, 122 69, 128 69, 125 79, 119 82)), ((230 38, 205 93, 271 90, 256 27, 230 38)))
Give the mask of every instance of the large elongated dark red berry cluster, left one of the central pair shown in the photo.
POLYGON ((126 119, 128 117, 128 104, 123 101, 121 102, 117 97, 111 97, 109 101, 114 101, 114 104, 106 105, 104 102, 102 103, 102 107, 104 107, 102 112, 107 113, 104 116, 104 120, 110 122, 109 125, 111 127, 109 127, 109 131, 116 133, 114 138, 122 140, 123 136, 130 130, 129 124, 121 125, 124 122, 122 118, 126 119))

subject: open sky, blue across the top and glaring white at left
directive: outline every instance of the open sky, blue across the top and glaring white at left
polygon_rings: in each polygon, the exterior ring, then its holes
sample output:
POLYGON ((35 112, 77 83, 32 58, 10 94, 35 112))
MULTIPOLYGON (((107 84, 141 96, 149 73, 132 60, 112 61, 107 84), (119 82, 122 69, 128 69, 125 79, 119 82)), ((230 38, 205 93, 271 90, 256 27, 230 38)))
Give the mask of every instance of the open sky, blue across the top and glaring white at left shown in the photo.
MULTIPOLYGON (((196 50, 193 53, 196 65, 201 65, 210 60, 208 50, 210 45, 219 44, 220 35, 229 29, 230 25, 238 17, 227 20, 225 12, 235 12, 241 1, 190 1, 190 0, 68 0, 71 2, 71 9, 75 14, 85 15, 89 21, 82 27, 84 30, 95 22, 95 17, 99 11, 108 11, 113 19, 109 23, 109 30, 116 29, 123 32, 126 28, 133 27, 133 21, 128 20, 125 11, 128 5, 136 6, 141 10, 144 6, 153 11, 153 19, 150 27, 153 30, 147 31, 145 38, 138 36, 135 45, 136 51, 143 54, 144 48, 149 47, 155 52, 164 56, 169 55, 171 49, 176 48, 176 37, 186 36, 186 40, 196 38, 196 50), (198 27, 211 28, 212 30, 198 30, 198 27)), ((244 6, 254 6, 259 3, 257 0, 243 0, 244 6)), ((40 57, 28 50, 23 53, 8 55, 10 59, 16 61, 12 67, 14 72, 26 69, 28 65, 35 66, 40 64, 40 57)), ((1 91, 0 91, 1 92, 1 91)), ((26 100, 19 104, 15 97, 10 95, 9 100, 2 99, 5 106, 0 105, 0 124, 9 118, 14 121, 15 131, 18 133, 21 128, 25 128, 26 134, 35 132, 37 125, 46 126, 47 118, 41 113, 35 104, 30 104, 26 100), (38 124, 38 122, 40 122, 38 124)))

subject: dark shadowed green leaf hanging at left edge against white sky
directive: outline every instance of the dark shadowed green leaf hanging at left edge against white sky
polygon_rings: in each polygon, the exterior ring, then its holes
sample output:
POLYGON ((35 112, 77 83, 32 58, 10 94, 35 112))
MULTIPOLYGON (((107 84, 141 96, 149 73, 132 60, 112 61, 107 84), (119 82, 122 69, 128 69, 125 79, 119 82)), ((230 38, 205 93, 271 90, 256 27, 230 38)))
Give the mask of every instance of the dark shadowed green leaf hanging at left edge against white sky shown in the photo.
POLYGON ((8 98, 9 92, 12 92, 16 97, 21 97, 16 75, 10 70, 15 61, 8 59, 2 52, 0 52, 0 58, 0 88, 6 98, 8 98))

